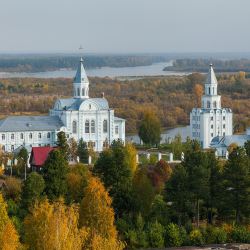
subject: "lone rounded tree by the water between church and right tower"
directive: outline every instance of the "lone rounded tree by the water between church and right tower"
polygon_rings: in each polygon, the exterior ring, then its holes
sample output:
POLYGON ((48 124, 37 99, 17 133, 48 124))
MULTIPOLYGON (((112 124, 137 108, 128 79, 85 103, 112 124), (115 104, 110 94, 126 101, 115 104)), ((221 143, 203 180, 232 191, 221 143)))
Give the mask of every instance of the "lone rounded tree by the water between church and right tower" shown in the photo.
POLYGON ((157 145, 161 140, 161 124, 152 112, 145 112, 139 124, 138 134, 145 144, 157 145))

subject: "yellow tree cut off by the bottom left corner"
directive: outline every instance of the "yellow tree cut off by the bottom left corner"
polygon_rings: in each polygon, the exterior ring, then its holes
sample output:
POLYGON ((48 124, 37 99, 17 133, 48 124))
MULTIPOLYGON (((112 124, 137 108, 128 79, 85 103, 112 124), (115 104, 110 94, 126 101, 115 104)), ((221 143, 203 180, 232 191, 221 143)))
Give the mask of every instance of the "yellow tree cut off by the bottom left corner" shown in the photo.
POLYGON ((19 236, 8 217, 7 204, 0 193, 0 250, 16 250, 19 247, 19 236))

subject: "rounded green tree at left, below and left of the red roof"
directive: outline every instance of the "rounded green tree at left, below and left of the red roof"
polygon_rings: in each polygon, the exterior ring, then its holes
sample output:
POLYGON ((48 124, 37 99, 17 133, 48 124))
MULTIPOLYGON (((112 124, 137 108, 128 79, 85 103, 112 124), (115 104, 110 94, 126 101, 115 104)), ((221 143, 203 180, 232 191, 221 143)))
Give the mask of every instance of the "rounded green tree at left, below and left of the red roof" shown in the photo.
POLYGON ((26 210, 32 206, 35 201, 41 198, 44 188, 45 183, 43 177, 36 172, 30 173, 24 181, 22 189, 22 206, 26 210))

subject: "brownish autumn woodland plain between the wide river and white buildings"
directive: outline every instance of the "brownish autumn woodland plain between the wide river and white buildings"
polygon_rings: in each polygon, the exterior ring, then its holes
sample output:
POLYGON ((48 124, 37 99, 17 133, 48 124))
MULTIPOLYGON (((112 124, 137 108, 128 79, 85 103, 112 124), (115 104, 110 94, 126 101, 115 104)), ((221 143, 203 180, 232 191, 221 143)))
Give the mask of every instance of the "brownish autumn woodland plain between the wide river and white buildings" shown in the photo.
MULTIPOLYGON (((133 81, 90 78, 90 96, 102 92, 116 115, 126 119, 126 132, 135 133, 143 112, 155 113, 163 128, 189 124, 189 113, 200 106, 204 74, 148 77, 133 81), (197 88, 198 86, 198 88, 197 88)), ((218 76, 223 107, 234 112, 235 132, 250 126, 250 79, 243 72, 218 76)), ((72 96, 72 79, 0 79, 0 116, 47 114, 59 97, 72 96)))

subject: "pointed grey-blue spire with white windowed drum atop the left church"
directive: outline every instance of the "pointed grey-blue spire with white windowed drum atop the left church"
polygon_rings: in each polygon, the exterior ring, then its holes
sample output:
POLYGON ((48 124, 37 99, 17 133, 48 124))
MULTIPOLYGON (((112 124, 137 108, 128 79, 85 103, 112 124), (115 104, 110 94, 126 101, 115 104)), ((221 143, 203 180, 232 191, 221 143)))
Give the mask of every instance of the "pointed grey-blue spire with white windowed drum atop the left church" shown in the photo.
POLYGON ((89 98, 89 80, 81 57, 74 78, 74 98, 89 98))

